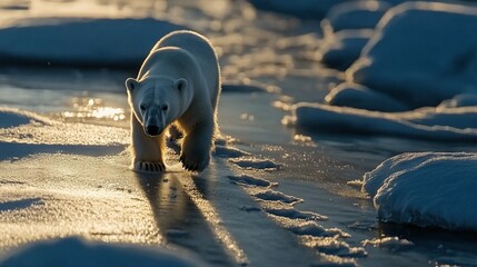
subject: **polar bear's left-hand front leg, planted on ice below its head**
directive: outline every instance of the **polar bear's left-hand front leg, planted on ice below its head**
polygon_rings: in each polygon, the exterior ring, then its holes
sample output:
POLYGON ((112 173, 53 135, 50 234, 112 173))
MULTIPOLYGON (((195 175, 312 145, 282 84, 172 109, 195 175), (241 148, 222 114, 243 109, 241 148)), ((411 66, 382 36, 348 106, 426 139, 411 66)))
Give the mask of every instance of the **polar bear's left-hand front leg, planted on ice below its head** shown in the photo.
POLYGON ((163 134, 157 137, 146 135, 141 123, 135 116, 131 116, 131 129, 132 170, 139 172, 165 171, 166 166, 162 160, 162 151, 165 151, 163 134))

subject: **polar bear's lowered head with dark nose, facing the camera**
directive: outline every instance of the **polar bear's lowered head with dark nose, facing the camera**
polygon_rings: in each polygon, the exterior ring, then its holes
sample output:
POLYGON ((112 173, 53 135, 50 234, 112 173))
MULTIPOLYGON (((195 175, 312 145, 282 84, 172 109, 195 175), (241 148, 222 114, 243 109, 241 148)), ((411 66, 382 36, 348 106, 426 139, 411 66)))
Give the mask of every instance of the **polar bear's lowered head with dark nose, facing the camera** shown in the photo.
MULTIPOLYGON (((129 105, 146 135, 159 136, 186 111, 187 80, 149 77, 141 80, 128 78, 126 88, 129 105)), ((190 101, 189 101, 190 102, 190 101)))

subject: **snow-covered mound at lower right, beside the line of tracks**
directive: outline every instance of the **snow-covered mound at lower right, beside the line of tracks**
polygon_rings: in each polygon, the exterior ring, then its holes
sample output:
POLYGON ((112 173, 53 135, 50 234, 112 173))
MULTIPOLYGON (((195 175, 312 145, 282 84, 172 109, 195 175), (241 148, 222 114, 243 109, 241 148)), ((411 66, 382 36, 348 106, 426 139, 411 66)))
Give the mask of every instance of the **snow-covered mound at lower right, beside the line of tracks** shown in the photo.
POLYGON ((381 221, 477 230, 477 154, 403 154, 364 177, 381 221))

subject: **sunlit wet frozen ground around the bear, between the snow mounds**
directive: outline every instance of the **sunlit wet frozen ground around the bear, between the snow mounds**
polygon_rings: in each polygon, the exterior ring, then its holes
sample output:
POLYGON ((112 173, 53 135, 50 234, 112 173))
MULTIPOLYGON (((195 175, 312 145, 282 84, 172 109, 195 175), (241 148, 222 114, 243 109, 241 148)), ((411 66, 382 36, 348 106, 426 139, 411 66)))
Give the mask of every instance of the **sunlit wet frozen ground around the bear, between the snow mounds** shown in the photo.
MULTIPOLYGON (((223 134, 231 136, 230 144, 218 144, 211 168, 199 176, 175 169, 161 177, 137 177, 126 169, 128 157, 121 152, 122 141, 103 140, 100 145, 85 140, 89 145, 62 146, 51 140, 47 142, 48 136, 53 135, 51 131, 32 130, 38 134, 34 136, 17 131, 14 136, 4 129, 10 139, 1 144, 2 151, 9 149, 2 154, 1 168, 6 166, 9 180, 13 180, 8 188, 20 196, 9 192, 11 202, 6 207, 16 210, 2 212, 18 212, 28 218, 38 215, 33 219, 38 225, 11 228, 26 236, 26 239, 13 238, 14 246, 58 237, 59 226, 64 226, 67 235, 97 241, 180 246, 193 250, 213 266, 245 261, 257 266, 473 263, 475 243, 471 236, 414 231, 378 224, 369 199, 356 186, 347 186, 347 181, 358 179, 399 151, 471 148, 392 138, 310 135, 280 125, 284 113, 271 103, 278 106, 279 100, 287 107, 297 101, 322 101, 328 85, 342 78, 339 72, 322 69, 315 58, 320 42, 317 23, 260 12, 245 1, 217 0, 213 4, 209 0, 166 4, 133 1, 121 6, 116 1, 62 4, 38 0, 26 6, 16 9, 16 16, 61 16, 66 12, 68 17, 87 13, 121 18, 151 14, 193 28, 212 39, 220 55, 226 85, 235 87, 229 87, 230 93, 225 90, 219 108, 220 127, 223 134), (52 8, 53 4, 58 7, 52 8), (93 8, 98 4, 101 8, 93 8), (71 7, 76 7, 74 10, 71 7), (19 144, 21 138, 26 138, 23 144, 19 144), (244 168, 229 162, 229 158, 245 164, 244 168), (264 162, 279 168, 265 170, 264 162), (26 171, 16 168, 19 166, 26 171), (233 181, 236 185, 230 184, 230 177, 239 177, 233 181), (255 197, 259 192, 265 192, 258 195, 262 198, 255 197), (304 201, 280 201, 291 199, 287 196, 304 201), (130 214, 135 217, 122 214, 123 206, 132 207, 130 214), (71 215, 73 211, 79 212, 80 221, 87 220, 89 225, 73 227, 76 222, 71 218, 77 218, 71 215), (63 212, 71 218, 62 217, 63 212), (141 220, 135 220, 136 216, 141 220), (48 224, 44 230, 39 230, 49 236, 36 236, 28 230, 43 226, 47 219, 58 222, 58 227, 48 224), (394 237, 407 239, 415 246, 408 248, 396 241, 397 249, 388 249, 385 244, 392 244, 394 237), (368 243, 364 243, 366 240, 368 243)), ((11 9, 6 10, 9 10, 6 18, 16 17, 11 9)), ((59 125, 66 122, 73 127, 87 122, 105 126, 97 128, 105 131, 101 135, 116 128, 118 132, 126 132, 128 110, 123 77, 126 73, 110 70, 9 68, 2 70, 0 77, 0 88, 6 92, 0 96, 0 102, 42 112, 49 120, 58 119, 59 125), (14 101, 11 96, 16 96, 14 101)), ((17 130, 30 131, 33 127, 26 128, 23 123, 18 122, 17 130)), ((96 127, 86 129, 85 132, 64 131, 67 137, 79 138, 88 136, 96 127)), ((177 162, 173 155, 170 155, 171 165, 177 162)), ((11 219, 10 216, 2 218, 11 219)), ((8 251, 10 249, 2 249, 2 254, 8 251)))

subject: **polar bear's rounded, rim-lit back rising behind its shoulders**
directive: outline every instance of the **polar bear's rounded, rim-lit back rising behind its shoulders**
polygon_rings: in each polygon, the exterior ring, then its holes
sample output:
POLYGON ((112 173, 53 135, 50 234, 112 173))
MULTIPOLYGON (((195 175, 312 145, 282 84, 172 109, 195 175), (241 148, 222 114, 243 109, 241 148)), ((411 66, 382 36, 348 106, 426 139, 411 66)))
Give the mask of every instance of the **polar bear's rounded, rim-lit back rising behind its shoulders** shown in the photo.
POLYGON ((193 56, 202 75, 206 77, 211 95, 215 96, 212 101, 216 103, 216 98, 220 90, 220 69, 216 52, 209 40, 193 31, 173 31, 160 39, 152 48, 151 53, 165 47, 181 48, 193 56))

